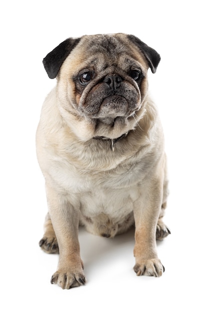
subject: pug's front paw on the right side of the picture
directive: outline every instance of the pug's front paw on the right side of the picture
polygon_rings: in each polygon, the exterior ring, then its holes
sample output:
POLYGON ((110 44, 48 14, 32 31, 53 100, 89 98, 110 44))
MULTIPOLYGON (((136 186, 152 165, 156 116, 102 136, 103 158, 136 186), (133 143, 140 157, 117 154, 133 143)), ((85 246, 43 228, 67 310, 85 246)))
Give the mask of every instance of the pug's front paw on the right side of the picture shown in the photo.
POLYGON ((136 263, 133 269, 137 276, 145 275, 160 277, 165 271, 164 266, 158 258, 148 259, 145 261, 142 260, 141 262, 136 263))

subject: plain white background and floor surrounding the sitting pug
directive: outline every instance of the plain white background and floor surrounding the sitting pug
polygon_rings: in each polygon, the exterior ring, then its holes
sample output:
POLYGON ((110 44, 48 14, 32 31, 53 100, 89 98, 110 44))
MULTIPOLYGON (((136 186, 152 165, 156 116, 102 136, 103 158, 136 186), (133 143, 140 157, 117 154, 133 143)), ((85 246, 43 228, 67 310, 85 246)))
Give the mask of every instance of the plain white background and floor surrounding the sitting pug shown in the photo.
POLYGON ((207 1, 7 1, 1 14, 2 313, 208 313, 207 1), (42 65, 68 37, 123 32, 161 55, 150 91, 166 139, 171 235, 158 243, 160 278, 137 277, 133 231, 115 239, 80 232, 85 286, 50 284, 58 255, 38 242, 47 213, 35 132, 55 85, 42 65))

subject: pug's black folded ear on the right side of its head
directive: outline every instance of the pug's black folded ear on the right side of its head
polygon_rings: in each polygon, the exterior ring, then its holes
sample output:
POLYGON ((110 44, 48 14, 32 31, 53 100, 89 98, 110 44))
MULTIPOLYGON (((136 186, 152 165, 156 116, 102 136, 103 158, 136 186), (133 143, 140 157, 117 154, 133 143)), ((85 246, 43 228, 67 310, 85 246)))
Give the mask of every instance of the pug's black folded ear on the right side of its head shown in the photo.
POLYGON ((128 38, 140 49, 140 51, 143 53, 144 57, 146 58, 152 73, 155 73, 157 66, 160 62, 160 55, 154 49, 144 44, 137 37, 133 35, 128 35, 128 38))

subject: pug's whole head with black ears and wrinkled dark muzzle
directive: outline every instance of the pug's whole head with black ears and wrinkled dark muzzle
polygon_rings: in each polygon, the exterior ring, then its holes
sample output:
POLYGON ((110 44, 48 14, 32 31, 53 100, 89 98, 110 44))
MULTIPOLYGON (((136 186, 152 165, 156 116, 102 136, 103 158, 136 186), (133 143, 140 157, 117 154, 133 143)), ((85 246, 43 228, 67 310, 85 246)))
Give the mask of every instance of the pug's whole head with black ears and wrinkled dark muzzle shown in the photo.
POLYGON ((91 121, 93 135, 118 137, 139 120, 147 69, 155 72, 159 61, 138 38, 114 34, 70 38, 47 55, 44 65, 49 77, 58 79, 65 119, 73 114, 91 121))

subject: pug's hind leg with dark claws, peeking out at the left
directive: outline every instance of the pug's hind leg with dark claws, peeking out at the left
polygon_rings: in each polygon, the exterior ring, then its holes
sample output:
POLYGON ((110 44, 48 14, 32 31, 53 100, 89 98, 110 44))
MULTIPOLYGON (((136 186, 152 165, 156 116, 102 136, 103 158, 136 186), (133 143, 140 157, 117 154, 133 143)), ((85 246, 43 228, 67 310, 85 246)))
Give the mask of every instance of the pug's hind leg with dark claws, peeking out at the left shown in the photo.
POLYGON ((44 236, 39 241, 39 245, 46 253, 59 253, 59 246, 49 213, 47 213, 44 223, 44 236))

